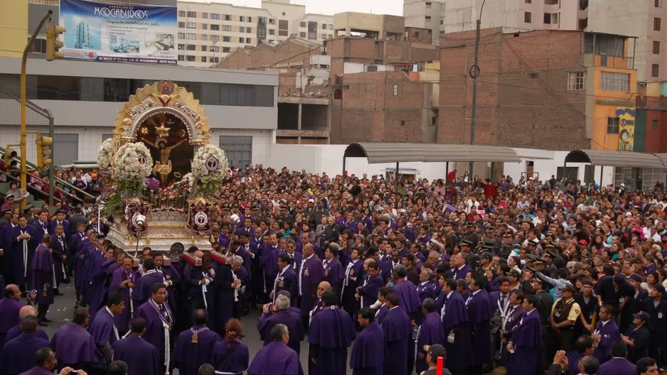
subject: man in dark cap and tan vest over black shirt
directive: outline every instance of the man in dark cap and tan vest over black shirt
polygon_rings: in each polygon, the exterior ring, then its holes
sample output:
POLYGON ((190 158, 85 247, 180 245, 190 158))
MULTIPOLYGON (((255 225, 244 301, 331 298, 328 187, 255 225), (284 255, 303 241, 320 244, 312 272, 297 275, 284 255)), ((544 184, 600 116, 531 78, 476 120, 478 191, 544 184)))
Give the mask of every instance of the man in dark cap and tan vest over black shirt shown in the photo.
POLYGON ((555 349, 565 350, 566 353, 572 352, 575 323, 581 313, 581 307, 573 298, 575 293, 577 289, 570 284, 562 287, 561 297, 553 305, 550 316, 551 329, 555 334, 555 349))

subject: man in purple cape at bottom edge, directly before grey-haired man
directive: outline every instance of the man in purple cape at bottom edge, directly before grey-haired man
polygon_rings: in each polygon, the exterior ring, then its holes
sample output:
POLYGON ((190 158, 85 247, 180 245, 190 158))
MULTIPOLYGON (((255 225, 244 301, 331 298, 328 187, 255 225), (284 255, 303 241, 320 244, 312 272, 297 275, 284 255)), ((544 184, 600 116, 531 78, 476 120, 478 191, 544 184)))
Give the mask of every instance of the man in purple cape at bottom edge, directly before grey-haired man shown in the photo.
POLYGON ((273 342, 255 354, 247 369, 248 375, 304 375, 299 354, 287 346, 287 326, 279 324, 273 327, 271 337, 273 342))

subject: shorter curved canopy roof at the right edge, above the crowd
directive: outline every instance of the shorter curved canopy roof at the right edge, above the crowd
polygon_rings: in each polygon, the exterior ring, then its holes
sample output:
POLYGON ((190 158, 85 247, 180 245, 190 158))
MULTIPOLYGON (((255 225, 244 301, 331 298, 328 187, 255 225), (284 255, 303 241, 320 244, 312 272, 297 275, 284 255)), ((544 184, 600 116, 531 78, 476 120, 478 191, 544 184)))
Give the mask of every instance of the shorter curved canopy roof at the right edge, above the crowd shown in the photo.
POLYGON ((565 156, 565 163, 591 163, 608 167, 658 168, 665 163, 653 153, 610 150, 575 150, 565 156))

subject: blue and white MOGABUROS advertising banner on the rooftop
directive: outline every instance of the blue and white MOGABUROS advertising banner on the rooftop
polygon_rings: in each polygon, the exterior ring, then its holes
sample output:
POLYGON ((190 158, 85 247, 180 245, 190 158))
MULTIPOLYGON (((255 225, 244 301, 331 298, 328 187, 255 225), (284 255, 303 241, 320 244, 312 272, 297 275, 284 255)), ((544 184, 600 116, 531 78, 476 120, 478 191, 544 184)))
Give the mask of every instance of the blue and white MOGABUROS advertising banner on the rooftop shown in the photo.
POLYGON ((67 59, 175 65, 177 16, 175 6, 60 0, 60 50, 67 59))

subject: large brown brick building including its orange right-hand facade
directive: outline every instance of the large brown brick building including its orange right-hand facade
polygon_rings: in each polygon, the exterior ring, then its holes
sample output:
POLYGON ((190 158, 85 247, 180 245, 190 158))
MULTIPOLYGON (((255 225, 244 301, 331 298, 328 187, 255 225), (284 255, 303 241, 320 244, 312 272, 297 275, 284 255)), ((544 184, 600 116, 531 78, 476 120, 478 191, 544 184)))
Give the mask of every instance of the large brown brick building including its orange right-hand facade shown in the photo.
MULTIPOLYGON (((464 31, 440 42, 438 142, 470 141, 474 39, 474 31, 464 31)), ((618 150, 616 113, 634 112, 636 94, 627 40, 584 31, 482 30, 475 143, 618 150)))

